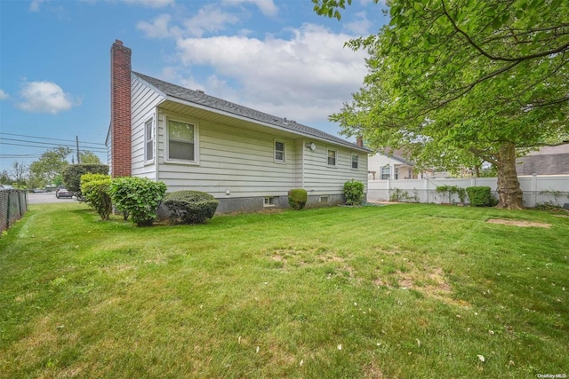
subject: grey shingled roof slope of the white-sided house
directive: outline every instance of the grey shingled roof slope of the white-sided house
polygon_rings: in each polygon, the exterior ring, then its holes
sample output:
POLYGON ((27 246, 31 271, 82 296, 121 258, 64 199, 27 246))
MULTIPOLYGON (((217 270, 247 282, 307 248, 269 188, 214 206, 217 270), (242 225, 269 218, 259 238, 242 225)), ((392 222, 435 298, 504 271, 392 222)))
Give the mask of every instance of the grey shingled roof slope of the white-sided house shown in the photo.
POLYGON ((266 114, 255 109, 240 106, 238 104, 232 103, 230 101, 215 98, 210 95, 206 95, 203 91, 193 91, 188 88, 181 87, 180 85, 164 82, 160 79, 156 79, 152 76, 143 75, 140 73, 132 72, 142 81, 150 84, 150 86, 156 88, 156 90, 161 91, 164 95, 185 100, 190 103, 194 103, 203 107, 211 108, 213 112, 221 111, 228 114, 236 114, 241 117, 248 118, 255 122, 263 122, 266 124, 274 125, 279 129, 290 130, 296 134, 301 134, 307 137, 318 138, 320 140, 332 142, 337 145, 347 146, 353 149, 363 151, 365 153, 370 153, 366 147, 357 146, 355 143, 349 142, 345 139, 338 138, 332 134, 325 133, 322 130, 317 130, 309 126, 303 125, 299 122, 293 120, 287 120, 286 118, 277 117, 275 115, 266 114))

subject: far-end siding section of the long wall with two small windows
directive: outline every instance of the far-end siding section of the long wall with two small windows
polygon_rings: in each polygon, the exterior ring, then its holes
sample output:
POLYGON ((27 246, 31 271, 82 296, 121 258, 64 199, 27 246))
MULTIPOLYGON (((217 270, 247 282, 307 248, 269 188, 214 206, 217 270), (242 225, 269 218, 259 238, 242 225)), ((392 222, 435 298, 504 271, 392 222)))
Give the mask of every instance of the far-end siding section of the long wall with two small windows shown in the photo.
POLYGON ((344 183, 356 179, 364 183, 367 191, 367 154, 358 153, 358 169, 352 169, 354 151, 341 146, 316 143, 316 150, 304 151, 304 188, 310 195, 341 194, 344 183), (327 165, 328 148, 335 149, 336 166, 327 165))

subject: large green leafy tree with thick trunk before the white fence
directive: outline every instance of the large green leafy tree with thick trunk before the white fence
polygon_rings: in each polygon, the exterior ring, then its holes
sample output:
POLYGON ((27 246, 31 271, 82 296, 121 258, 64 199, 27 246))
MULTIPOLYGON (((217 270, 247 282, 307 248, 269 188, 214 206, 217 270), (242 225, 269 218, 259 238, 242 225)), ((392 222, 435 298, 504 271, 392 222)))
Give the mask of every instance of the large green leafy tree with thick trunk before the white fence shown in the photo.
MULTIPOLYGON (((313 0, 340 18, 350 0, 313 0)), ((376 1, 377 3, 377 1, 376 1)), ((516 157, 569 135, 569 2, 388 0, 391 20, 352 40, 370 53, 351 104, 331 118, 419 162, 490 162, 498 207, 522 208, 516 157)))

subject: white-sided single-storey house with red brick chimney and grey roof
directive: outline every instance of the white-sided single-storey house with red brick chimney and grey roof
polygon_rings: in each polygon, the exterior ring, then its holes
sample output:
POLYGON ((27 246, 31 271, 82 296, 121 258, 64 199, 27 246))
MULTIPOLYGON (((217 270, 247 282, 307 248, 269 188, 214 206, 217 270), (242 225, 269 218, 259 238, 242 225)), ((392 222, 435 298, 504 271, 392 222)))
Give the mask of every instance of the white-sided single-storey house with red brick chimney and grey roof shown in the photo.
POLYGON ((131 54, 113 43, 107 138, 113 177, 211 193, 220 213, 286 208, 292 188, 308 191, 307 206, 341 203, 349 179, 366 191, 371 151, 362 144, 133 72, 131 54))

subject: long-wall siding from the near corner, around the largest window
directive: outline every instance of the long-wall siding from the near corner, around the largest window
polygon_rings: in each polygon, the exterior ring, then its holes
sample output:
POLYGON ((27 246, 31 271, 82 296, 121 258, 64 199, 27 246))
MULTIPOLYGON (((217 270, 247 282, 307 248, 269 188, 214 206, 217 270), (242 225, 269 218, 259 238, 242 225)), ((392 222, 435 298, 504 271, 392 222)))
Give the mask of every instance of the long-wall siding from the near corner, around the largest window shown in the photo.
POLYGON ((162 110, 158 123, 159 180, 168 191, 192 189, 217 198, 279 196, 295 186, 295 148, 293 139, 285 142, 286 162, 274 162, 275 138, 266 133, 242 130, 204 120, 191 114, 169 114, 162 110), (199 164, 164 162, 166 117, 197 122, 199 164), (226 191, 230 194, 227 195, 226 191))

